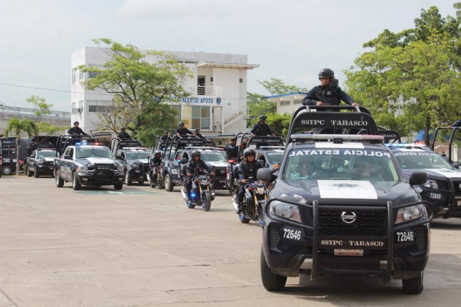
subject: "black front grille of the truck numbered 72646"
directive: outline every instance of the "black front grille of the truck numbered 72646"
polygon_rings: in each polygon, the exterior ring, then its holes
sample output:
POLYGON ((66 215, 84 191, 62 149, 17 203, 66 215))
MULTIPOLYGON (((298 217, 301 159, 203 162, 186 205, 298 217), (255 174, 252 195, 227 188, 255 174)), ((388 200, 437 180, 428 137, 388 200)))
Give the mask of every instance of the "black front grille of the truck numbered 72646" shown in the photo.
POLYGON ((318 234, 352 237, 386 235, 387 214, 385 212, 355 211, 357 219, 351 224, 341 220, 342 213, 342 211, 319 211, 318 234))

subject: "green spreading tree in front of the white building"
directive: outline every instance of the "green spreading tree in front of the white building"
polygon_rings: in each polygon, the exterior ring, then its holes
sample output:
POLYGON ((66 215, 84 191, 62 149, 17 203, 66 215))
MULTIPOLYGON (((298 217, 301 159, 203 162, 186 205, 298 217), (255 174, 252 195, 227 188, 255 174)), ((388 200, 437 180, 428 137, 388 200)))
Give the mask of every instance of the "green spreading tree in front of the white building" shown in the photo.
MULTIPOLYGON (((92 76, 82 82, 86 89, 104 89, 114 95, 112 104, 98 114, 100 130, 118 132, 125 126, 136 137, 141 131, 150 129, 150 114, 155 113, 160 104, 189 96, 184 82, 193 76, 186 65, 169 53, 145 53, 133 45, 123 46, 108 38, 95 39, 94 43, 107 46, 103 50, 109 60, 104 68, 81 66, 79 69, 92 76), (146 62, 146 56, 155 57, 155 62, 146 62)), ((158 127, 170 125, 174 114, 171 111, 170 116, 166 116, 165 108, 162 113, 165 116, 158 117, 159 121, 155 122, 158 127)))

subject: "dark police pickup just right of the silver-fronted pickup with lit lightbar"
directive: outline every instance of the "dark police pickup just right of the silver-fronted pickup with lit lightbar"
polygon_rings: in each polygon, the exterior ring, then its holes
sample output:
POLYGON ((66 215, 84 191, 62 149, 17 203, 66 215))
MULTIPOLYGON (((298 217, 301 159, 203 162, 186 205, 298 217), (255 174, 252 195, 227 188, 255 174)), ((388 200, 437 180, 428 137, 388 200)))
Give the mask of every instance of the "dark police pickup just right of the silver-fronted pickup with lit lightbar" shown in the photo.
POLYGON ((142 147, 137 140, 119 140, 115 156, 125 165, 125 184, 130 186, 133 182, 138 182, 143 185, 149 174, 149 158, 152 157, 148 148, 142 147))

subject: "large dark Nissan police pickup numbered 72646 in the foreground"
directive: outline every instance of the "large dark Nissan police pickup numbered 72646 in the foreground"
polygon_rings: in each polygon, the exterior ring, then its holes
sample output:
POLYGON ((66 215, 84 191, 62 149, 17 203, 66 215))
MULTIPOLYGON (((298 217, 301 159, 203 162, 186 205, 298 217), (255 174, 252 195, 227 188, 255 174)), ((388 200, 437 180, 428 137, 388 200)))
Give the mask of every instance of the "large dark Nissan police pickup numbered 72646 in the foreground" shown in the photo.
POLYGON ((299 274, 311 281, 362 275, 402 279, 404 292, 419 294, 432 211, 414 186, 426 182, 426 173, 404 180, 372 116, 362 107, 336 108, 355 112, 295 111, 278 171, 258 170, 258 179, 272 183, 262 220, 262 284, 279 291, 299 274), (368 133, 303 133, 351 127, 368 133))

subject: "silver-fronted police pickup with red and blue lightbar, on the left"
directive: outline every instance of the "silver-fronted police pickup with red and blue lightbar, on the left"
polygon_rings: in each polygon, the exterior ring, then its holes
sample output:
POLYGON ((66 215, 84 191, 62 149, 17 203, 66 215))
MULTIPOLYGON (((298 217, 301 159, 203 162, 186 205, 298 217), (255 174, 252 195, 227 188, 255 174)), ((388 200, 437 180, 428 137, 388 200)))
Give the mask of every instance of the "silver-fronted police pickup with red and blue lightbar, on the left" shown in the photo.
POLYGON ((109 147, 99 143, 67 145, 61 157, 55 158, 56 186, 72 182, 72 189, 83 186, 123 187, 123 163, 116 160, 109 147), (89 144, 89 145, 88 145, 89 144))

